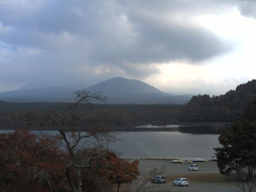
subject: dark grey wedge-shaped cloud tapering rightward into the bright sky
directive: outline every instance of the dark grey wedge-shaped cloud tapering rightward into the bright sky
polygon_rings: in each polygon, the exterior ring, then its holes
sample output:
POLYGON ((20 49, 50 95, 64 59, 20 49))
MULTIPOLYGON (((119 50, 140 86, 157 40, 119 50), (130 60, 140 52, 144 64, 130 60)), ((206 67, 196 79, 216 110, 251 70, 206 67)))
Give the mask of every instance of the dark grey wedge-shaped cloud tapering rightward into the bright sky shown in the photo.
POLYGON ((161 20, 157 15, 134 13, 129 17, 134 24, 136 35, 134 42, 122 44, 118 40, 115 47, 108 44, 97 46, 93 59, 120 63, 122 60, 132 63, 168 62, 188 59, 200 61, 228 50, 228 44, 200 26, 189 26, 161 20))

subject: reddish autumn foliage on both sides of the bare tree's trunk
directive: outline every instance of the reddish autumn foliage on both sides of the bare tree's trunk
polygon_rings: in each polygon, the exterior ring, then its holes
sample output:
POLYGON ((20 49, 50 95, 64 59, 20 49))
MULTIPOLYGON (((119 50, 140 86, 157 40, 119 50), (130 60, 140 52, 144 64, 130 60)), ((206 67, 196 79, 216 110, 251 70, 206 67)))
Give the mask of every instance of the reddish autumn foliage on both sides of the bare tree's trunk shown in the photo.
MULTIPOLYGON (((75 155, 77 163, 95 157, 82 169, 83 192, 109 191, 110 183, 118 184, 119 190, 120 184, 130 183, 139 175, 139 161, 121 160, 109 150, 84 148, 75 155)), ((1 192, 72 191, 66 177, 69 163, 70 155, 60 137, 36 135, 27 129, 0 134, 1 192)), ((69 175, 78 185, 76 169, 71 168, 69 175)))

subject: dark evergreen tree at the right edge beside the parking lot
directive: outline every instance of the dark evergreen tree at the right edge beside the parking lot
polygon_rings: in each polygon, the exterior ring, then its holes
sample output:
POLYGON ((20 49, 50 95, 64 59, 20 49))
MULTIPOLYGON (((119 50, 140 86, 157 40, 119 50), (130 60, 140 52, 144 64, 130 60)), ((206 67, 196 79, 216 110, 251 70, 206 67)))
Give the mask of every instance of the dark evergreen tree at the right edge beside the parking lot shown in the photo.
POLYGON ((230 175, 236 171, 239 175, 241 168, 247 168, 247 178, 253 176, 256 167, 256 100, 249 103, 244 112, 244 121, 236 122, 231 130, 219 136, 222 148, 216 150, 217 164, 221 174, 230 175))

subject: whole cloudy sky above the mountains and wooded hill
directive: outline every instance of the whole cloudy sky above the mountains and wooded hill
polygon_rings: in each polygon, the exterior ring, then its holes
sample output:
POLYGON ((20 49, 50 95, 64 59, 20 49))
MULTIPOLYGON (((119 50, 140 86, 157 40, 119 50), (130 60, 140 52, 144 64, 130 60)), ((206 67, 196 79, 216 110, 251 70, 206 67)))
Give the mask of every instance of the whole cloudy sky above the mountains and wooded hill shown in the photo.
POLYGON ((224 94, 256 78, 255 0, 0 0, 0 92, 114 77, 224 94))

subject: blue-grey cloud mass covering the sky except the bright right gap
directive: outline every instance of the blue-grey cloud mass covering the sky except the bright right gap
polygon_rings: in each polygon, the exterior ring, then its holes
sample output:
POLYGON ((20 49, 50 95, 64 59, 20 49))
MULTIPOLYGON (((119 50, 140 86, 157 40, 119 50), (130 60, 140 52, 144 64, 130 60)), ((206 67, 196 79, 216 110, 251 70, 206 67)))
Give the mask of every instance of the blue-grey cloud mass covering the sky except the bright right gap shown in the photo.
POLYGON ((0 2, 0 81, 144 78, 158 72, 153 63, 196 63, 231 44, 192 18, 235 6, 253 12, 231 0, 0 2))

